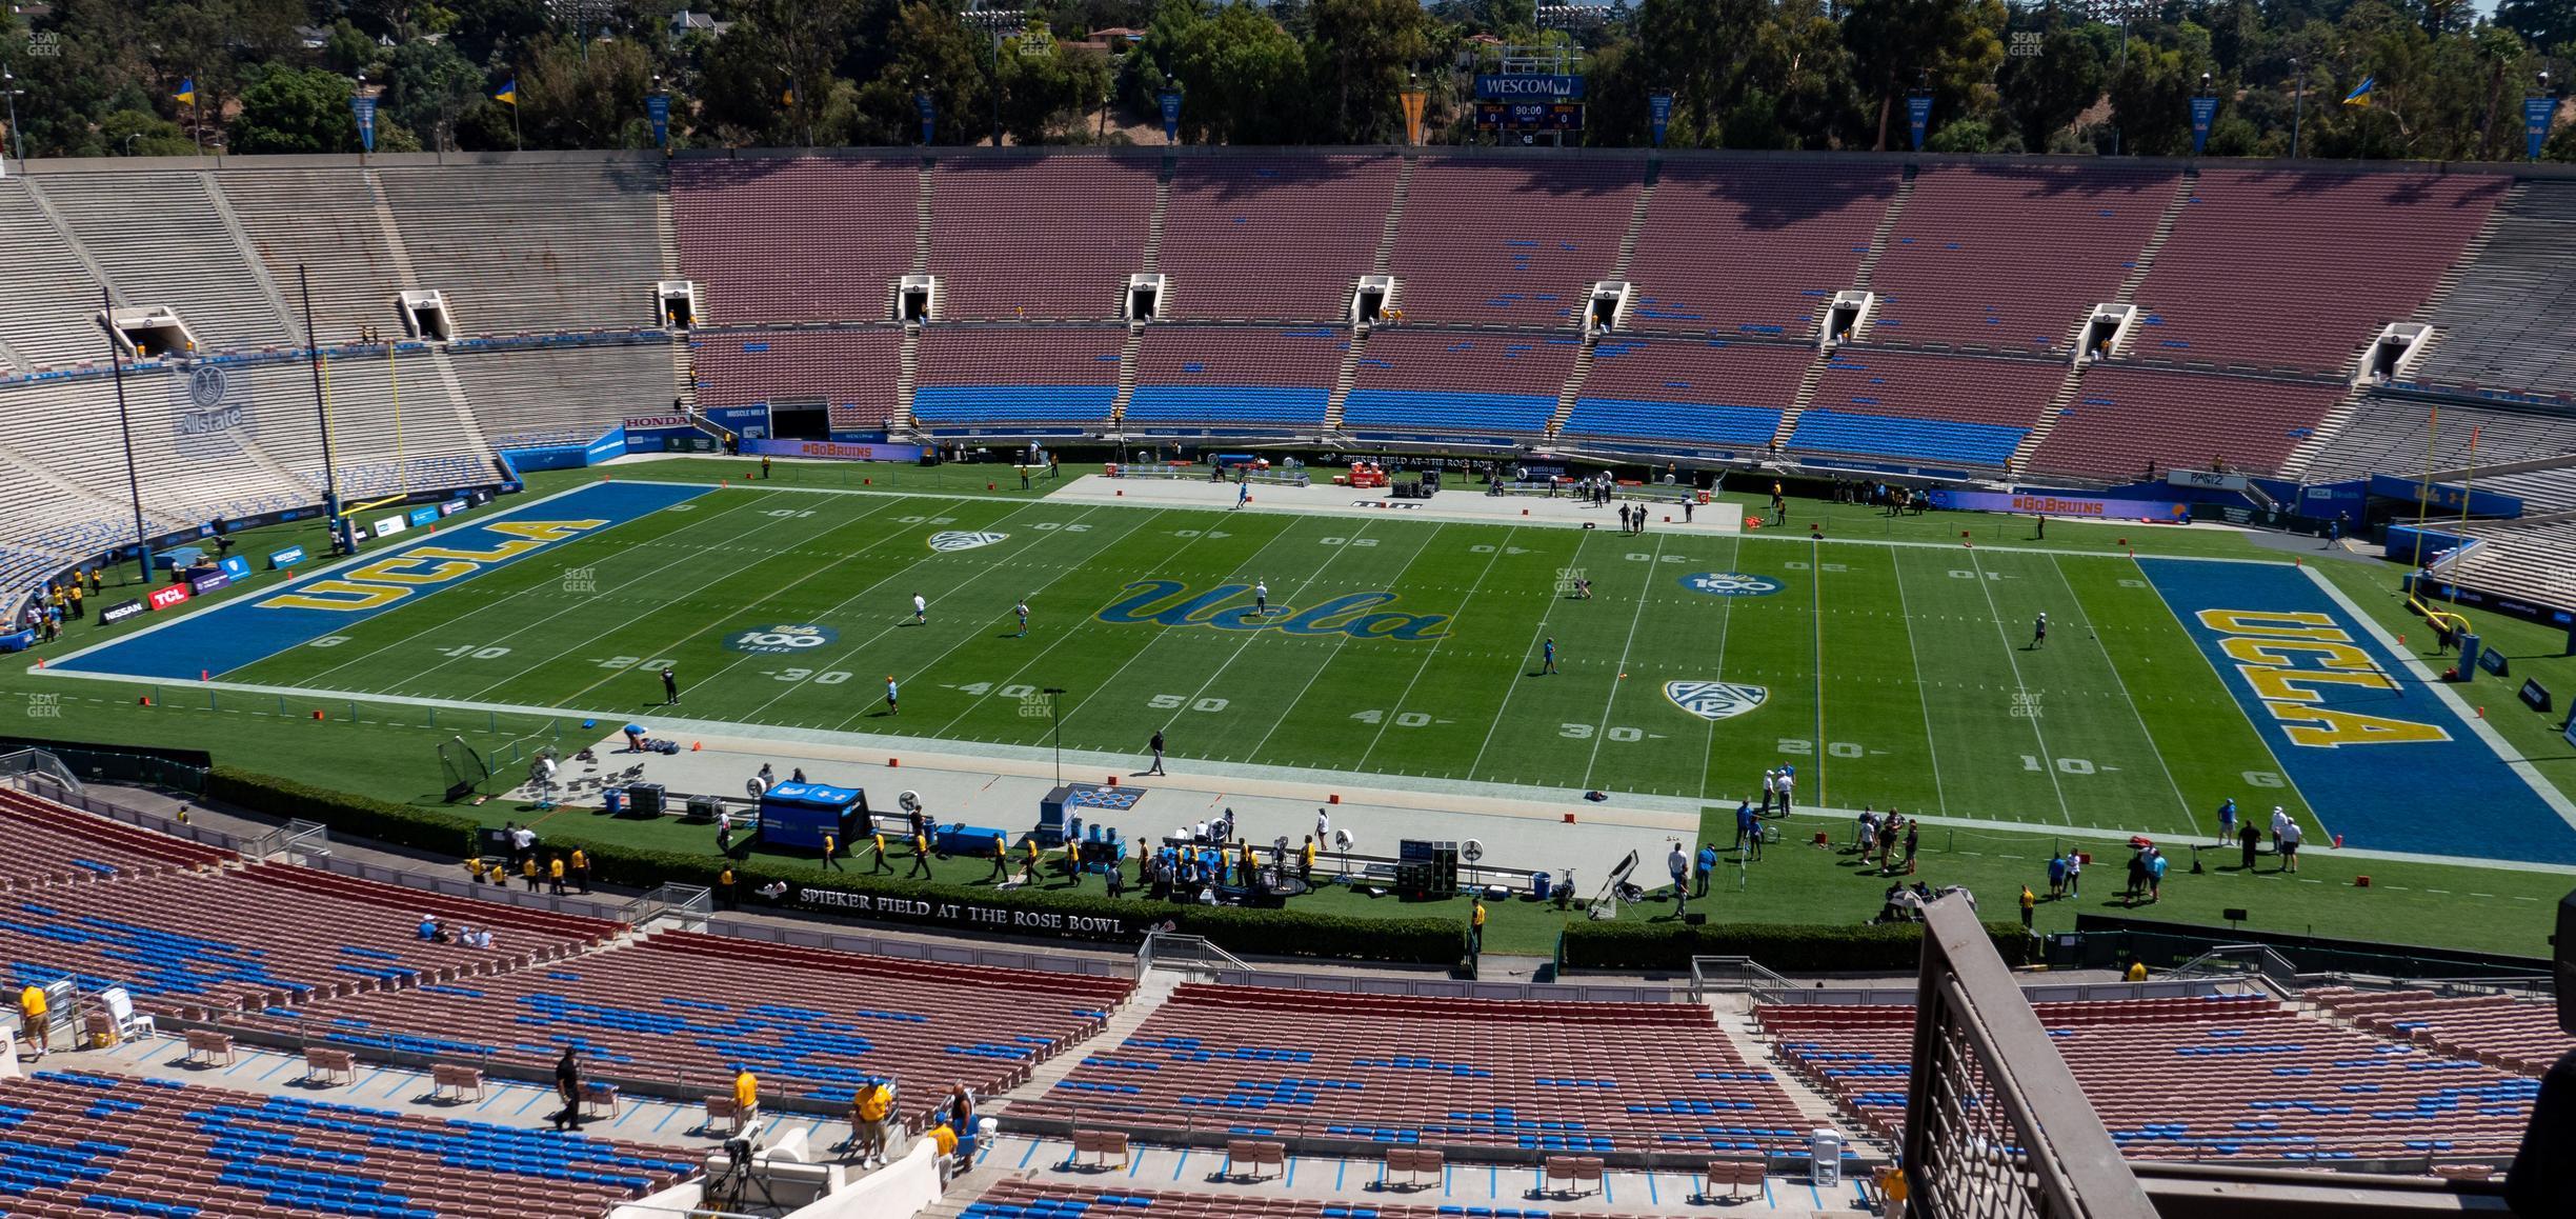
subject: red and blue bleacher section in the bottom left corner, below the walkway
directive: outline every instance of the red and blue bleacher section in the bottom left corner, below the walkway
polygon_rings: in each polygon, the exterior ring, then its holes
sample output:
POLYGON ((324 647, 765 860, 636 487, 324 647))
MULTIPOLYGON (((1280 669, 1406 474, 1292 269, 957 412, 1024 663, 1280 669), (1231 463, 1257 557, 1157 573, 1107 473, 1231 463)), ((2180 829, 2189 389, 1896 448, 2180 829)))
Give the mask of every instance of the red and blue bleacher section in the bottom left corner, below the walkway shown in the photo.
POLYGON ((0 1082, 0 1206, 13 1219, 598 1219, 698 1173, 590 1134, 111 1072, 0 1082))

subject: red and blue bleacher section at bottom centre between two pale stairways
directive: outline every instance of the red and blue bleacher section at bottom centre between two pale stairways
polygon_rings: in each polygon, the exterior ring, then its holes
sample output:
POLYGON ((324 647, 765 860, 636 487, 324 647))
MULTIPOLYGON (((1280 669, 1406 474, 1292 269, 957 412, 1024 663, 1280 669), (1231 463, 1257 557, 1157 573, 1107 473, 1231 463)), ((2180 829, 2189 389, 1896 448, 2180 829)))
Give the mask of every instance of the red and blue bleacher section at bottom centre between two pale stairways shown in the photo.
POLYGON ((1025 1116, 1551 1152, 1767 1149, 1803 1121, 1703 1005, 1180 987, 1025 1116), (1582 1046, 1569 1057, 1569 1046, 1582 1046))

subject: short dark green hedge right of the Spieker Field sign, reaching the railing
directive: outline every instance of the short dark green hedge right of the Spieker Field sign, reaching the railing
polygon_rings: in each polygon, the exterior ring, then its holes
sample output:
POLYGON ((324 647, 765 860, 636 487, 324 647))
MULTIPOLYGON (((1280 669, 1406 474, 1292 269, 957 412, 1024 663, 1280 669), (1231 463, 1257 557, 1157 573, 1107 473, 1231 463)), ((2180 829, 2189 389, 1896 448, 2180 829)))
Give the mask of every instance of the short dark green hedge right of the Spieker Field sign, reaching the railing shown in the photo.
MULTIPOLYGON (((2004 964, 2030 964, 2032 938, 2017 923, 1986 923, 2004 964)), ((1795 923, 1571 923, 1566 969, 1690 969, 1692 956, 1752 956, 1783 974, 1911 972, 1922 964, 1922 925, 1795 923)))

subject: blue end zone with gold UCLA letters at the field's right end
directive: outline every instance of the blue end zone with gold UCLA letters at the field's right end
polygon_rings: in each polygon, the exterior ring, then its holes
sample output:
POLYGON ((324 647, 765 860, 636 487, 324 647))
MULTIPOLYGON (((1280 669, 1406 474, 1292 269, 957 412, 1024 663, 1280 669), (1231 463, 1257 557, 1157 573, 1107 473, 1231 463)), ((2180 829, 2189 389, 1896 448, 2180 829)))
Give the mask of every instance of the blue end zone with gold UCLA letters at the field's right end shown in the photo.
MULTIPOLYGON (((2308 572, 2192 559, 2138 567, 2347 845, 2576 863, 2576 830, 2558 809, 2308 572)), ((2267 822, 2267 809, 2246 812, 2267 822)), ((2321 838, 2308 845, 2324 848, 2321 838)))

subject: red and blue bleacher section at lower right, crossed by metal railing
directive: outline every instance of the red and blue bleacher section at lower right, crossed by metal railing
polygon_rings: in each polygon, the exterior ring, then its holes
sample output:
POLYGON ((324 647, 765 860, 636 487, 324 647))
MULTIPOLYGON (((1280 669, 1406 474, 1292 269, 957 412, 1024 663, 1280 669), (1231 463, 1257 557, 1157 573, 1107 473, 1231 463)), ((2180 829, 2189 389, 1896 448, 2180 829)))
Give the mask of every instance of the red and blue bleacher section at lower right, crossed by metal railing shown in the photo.
MULTIPOLYGON (((2035 1005, 2133 1160, 2512 1157, 2540 1082, 2295 1015, 2272 997, 2035 1005)), ((1899 1137, 1914 1008, 1757 1008, 1775 1054, 1899 1137)))

